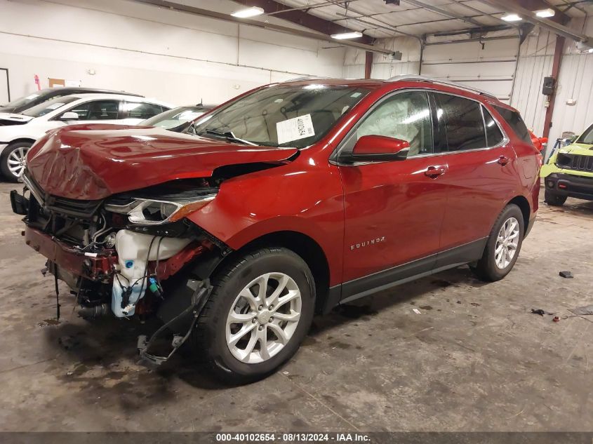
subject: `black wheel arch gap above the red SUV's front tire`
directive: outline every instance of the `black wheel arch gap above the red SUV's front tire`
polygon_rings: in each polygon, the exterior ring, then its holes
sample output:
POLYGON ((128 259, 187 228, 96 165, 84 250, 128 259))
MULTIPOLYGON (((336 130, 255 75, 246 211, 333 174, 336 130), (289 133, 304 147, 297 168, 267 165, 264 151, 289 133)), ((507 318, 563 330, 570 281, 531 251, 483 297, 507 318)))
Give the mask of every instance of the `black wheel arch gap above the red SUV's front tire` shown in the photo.
POLYGON ((241 248, 233 250, 222 261, 220 261, 212 271, 215 274, 221 267, 224 267, 234 257, 243 255, 249 250, 255 250, 262 247, 284 247, 292 250, 307 263, 313 274, 316 289, 316 311, 324 308, 329 292, 330 267, 328 258, 321 245, 314 238, 307 236, 299 231, 275 231, 265 234, 249 241, 241 248))

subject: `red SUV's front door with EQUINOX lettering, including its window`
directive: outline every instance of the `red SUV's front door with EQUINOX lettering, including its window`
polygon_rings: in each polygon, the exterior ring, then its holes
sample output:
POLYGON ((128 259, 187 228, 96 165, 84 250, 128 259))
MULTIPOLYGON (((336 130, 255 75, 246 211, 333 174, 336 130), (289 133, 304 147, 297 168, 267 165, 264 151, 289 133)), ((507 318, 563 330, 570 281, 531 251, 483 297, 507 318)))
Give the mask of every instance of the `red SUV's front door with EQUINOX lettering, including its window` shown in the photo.
POLYGON ((432 108, 419 90, 383 98, 342 142, 382 135, 410 143, 408 158, 339 165, 345 199, 342 302, 432 270, 446 204, 436 169, 432 108))

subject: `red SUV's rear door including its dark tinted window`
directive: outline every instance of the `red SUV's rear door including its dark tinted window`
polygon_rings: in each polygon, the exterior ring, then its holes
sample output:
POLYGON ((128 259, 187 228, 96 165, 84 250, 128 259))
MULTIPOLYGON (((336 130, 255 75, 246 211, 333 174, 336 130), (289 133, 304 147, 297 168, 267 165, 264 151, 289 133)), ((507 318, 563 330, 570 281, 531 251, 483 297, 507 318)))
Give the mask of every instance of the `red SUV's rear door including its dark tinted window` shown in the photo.
POLYGON ((435 149, 447 165, 437 268, 477 260, 486 237, 517 186, 517 156, 500 125, 477 100, 432 93, 439 135, 435 149))

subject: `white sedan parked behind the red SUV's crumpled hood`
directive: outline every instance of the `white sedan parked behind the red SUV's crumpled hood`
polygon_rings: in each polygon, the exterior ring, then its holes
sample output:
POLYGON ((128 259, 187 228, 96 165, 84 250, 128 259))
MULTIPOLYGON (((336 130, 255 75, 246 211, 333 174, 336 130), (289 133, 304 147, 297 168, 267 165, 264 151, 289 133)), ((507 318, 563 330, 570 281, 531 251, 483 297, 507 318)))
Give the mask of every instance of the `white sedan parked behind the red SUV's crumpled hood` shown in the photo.
POLYGON ((171 109, 159 100, 121 94, 75 94, 25 109, 0 113, 0 171, 12 182, 25 170, 27 151, 48 130, 73 123, 137 125, 171 109))

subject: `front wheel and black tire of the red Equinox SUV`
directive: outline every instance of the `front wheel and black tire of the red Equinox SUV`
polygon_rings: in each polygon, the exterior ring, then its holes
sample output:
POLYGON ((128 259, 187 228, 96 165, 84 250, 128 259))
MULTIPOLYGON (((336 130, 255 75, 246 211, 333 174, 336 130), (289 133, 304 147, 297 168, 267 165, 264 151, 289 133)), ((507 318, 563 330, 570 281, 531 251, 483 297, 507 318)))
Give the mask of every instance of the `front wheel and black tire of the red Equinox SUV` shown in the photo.
POLYGON ((315 306, 314 279, 300 256, 260 248, 231 260, 212 283, 192 342, 215 377, 253 382, 296 353, 315 306))

